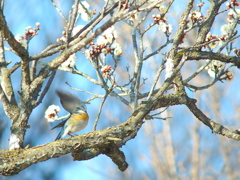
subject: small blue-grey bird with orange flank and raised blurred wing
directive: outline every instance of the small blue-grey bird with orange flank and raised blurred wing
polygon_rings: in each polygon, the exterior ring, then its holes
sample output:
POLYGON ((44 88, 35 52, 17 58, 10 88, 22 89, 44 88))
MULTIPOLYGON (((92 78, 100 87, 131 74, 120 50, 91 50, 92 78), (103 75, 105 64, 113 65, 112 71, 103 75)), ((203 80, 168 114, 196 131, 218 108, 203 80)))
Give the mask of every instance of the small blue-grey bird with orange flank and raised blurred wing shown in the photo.
POLYGON ((56 93, 60 98, 63 108, 70 113, 68 119, 52 128, 62 127, 55 139, 58 140, 67 134, 71 135, 84 129, 88 124, 89 116, 86 105, 77 96, 60 90, 56 90, 56 93))

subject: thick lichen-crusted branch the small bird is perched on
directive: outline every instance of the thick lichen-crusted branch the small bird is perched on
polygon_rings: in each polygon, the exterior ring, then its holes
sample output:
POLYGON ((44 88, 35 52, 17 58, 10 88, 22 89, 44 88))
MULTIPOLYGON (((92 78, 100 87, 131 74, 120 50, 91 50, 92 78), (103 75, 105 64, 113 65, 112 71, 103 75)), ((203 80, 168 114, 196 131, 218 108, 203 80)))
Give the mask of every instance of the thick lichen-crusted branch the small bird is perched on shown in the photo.
MULTIPOLYGON (((151 110, 184 103, 186 103, 184 98, 178 97, 177 95, 161 96, 154 101, 141 104, 138 108, 138 111, 136 111, 134 115, 132 115, 126 122, 118 126, 90 132, 84 135, 70 137, 64 140, 58 140, 43 146, 36 146, 29 149, 3 150, 0 152, 0 172, 6 176, 17 174, 32 164, 59 157, 68 153, 83 152, 84 150, 91 148, 102 149, 103 147, 108 147, 109 145, 114 145, 120 148, 128 140, 133 139, 136 136, 138 130, 144 122, 144 117, 151 110), (151 106, 149 104, 151 104, 151 106)), ((98 153, 100 152, 98 151, 96 153, 88 154, 85 153, 85 156, 78 157, 76 159, 80 160, 81 158, 92 158, 97 156, 98 153)), ((108 153, 106 151, 101 151, 101 153, 107 154, 111 158, 115 157, 113 155, 114 153, 108 153)), ((123 156, 120 159, 114 158, 113 161, 115 163, 122 164, 121 168, 123 168, 123 156)), ((120 167, 119 164, 118 166, 120 167)))

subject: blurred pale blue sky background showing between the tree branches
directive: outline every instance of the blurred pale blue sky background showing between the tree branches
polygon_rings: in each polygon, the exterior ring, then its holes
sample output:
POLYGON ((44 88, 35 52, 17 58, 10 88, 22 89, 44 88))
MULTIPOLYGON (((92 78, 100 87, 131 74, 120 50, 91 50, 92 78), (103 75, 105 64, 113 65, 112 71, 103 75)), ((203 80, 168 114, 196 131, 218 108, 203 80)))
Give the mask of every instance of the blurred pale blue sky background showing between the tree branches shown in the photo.
MULTIPOLYGON (((59 0, 56 1, 59 8, 62 10, 63 14, 66 16, 68 14, 68 10, 70 9, 73 1, 72 0, 59 0)), ((206 12, 208 6, 207 1, 206 6, 203 12, 206 12)), ((90 2, 89 2, 90 3, 90 2)), ((93 5, 93 8, 97 9, 97 12, 101 10, 101 4, 103 1, 94 1, 94 3, 90 3, 93 5)), ((180 9, 185 7, 185 2, 180 1, 176 3, 171 9, 169 13, 169 23, 173 25, 173 34, 176 31, 176 27, 178 26, 178 18, 180 17, 181 11, 180 9)), ((18 1, 5 1, 4 14, 8 23, 8 27, 12 31, 14 35, 24 34, 25 28, 28 26, 35 27, 36 22, 41 23, 41 30, 39 31, 39 35, 34 37, 29 45, 30 55, 34 55, 40 53, 44 48, 46 48, 50 44, 56 43, 56 39, 62 36, 62 31, 64 30, 63 25, 64 22, 62 18, 59 16, 56 9, 53 7, 50 0, 37 1, 37 0, 18 0, 18 1)), ((220 33, 220 26, 226 23, 226 15, 222 14, 218 17, 216 24, 214 24, 211 32, 214 34, 220 33)), ((149 20, 152 20, 149 18, 149 20)), ((146 22, 146 24, 150 24, 151 22, 146 22)), ((79 21, 78 24, 86 24, 86 22, 79 21)), ((130 62, 130 58, 132 55, 132 49, 129 44, 124 42, 125 38, 129 38, 131 36, 129 29, 122 29, 123 22, 120 22, 116 25, 116 29, 119 30, 120 34, 127 34, 126 36, 119 36, 118 41, 122 45, 124 49, 124 53, 122 55, 122 60, 119 63, 119 68, 117 69, 116 77, 118 78, 118 82, 124 84, 125 81, 121 79, 122 76, 126 76, 126 66, 130 65, 130 71, 134 69, 132 66, 133 63, 130 62), (123 32, 126 31, 126 32, 123 32), (123 74, 121 74, 123 73, 123 74)), ((154 49, 154 44, 157 44, 161 41, 164 41, 164 36, 160 34, 160 32, 155 28, 150 33, 152 36, 149 36, 149 39, 146 39, 145 43, 148 46, 146 53, 151 52, 154 49), (162 37, 162 39, 157 39, 156 37, 162 37)), ((188 38, 188 37, 186 37, 188 38)), ((188 43, 191 40, 188 41, 188 43)), ((6 44, 7 46, 7 44, 6 44)), ((168 48, 164 49, 163 52, 167 52, 168 48)), ((58 54, 53 55, 51 57, 45 58, 41 60, 41 62, 46 63, 56 57, 58 54)), ((160 56, 159 56, 160 57, 160 56)), ((6 52, 6 59, 12 60, 10 66, 14 65, 14 63, 19 62, 19 58, 15 56, 12 52, 6 52)), ((107 60, 109 64, 111 64, 111 59, 107 60)), ((187 78, 192 72, 194 72, 198 67, 199 62, 194 63, 186 63, 186 67, 182 70, 184 79, 187 78)), ((152 58, 151 61, 144 62, 144 65, 147 67, 143 69, 143 77, 148 77, 148 81, 146 85, 142 88, 143 92, 149 90, 149 84, 152 82, 152 78, 154 77, 156 64, 159 64, 157 58, 152 58), (152 69, 152 70, 149 70, 152 69), (153 71, 154 70, 154 71, 153 71)), ((77 68, 84 73, 87 73, 91 77, 96 77, 95 72, 89 61, 79 52, 77 53, 77 68)), ((239 70, 234 68, 235 77, 231 82, 221 83, 218 82, 214 88, 211 88, 209 91, 203 91, 199 93, 194 93, 187 90, 190 97, 197 98, 201 97, 201 100, 198 101, 198 105, 202 110, 214 120, 219 123, 223 123, 225 126, 230 128, 239 127, 240 124, 237 121, 239 118, 236 112, 239 111, 239 87, 240 81, 239 70), (220 97, 219 97, 220 96, 220 97), (215 100, 215 101, 214 101, 215 100), (219 114, 214 114, 213 111, 210 111, 209 108, 214 108, 213 104, 217 104, 220 112, 219 114), (216 118, 216 119, 215 119, 216 118)), ((12 78, 14 84, 14 90, 17 92, 20 90, 19 86, 19 77, 21 76, 20 70, 17 70, 12 78)), ((207 84, 211 81, 209 77, 207 77, 207 73, 202 75, 204 78, 199 78, 197 83, 199 84, 207 84)), ((104 90, 85 78, 72 75, 69 72, 58 71, 56 78, 53 81, 53 84, 49 90, 49 93, 46 95, 42 104, 40 104, 36 109, 34 109, 30 119, 29 125, 30 129, 27 130, 25 145, 30 144, 31 147, 37 145, 43 145, 45 143, 50 143, 54 141, 59 130, 50 130, 51 127, 56 125, 57 123, 49 124, 46 119, 44 119, 44 112, 49 105, 56 104, 60 106, 59 99, 55 94, 56 89, 67 90, 78 95, 83 101, 92 97, 87 93, 73 91, 66 85, 65 82, 71 84, 74 88, 78 88, 85 91, 91 91, 97 94, 104 94, 104 90)), ((196 82, 194 82, 196 83, 196 82)), ((16 93, 17 94, 17 93, 16 93)), ((19 98, 19 97, 18 97, 19 98)), ((88 126, 80 132, 80 134, 84 134, 92 131, 92 127, 94 124, 94 120, 96 118, 99 105, 102 99, 96 99, 92 101, 89 105, 87 105, 88 112, 90 115, 90 122, 88 126)), ((1 104, 0 104, 1 105, 1 104)), ((61 107, 61 106, 60 106, 61 107)), ((2 109, 2 108, 1 108, 2 109)), ((62 109, 62 108, 61 108, 62 109)), ((62 109, 60 112, 61 115, 66 115, 67 112, 62 109)), ((1 123, 0 125, 3 128, 1 134, 1 149, 8 149, 8 139, 10 135, 10 121, 5 116, 3 110, 0 111, 1 115, 1 123)), ((125 107, 121 102, 117 101, 115 98, 109 97, 104 104, 103 113, 100 116, 100 121, 97 126, 97 129, 105 129, 110 126, 118 125, 124 122, 129 116, 131 112, 129 108, 125 107), (123 113, 124 112, 124 113, 123 113)), ((126 160, 129 163, 129 167, 125 172, 120 172, 116 165, 111 161, 110 158, 100 155, 96 158, 93 158, 88 161, 72 161, 72 157, 70 155, 61 156, 57 159, 50 159, 45 162, 41 162, 35 165, 30 166, 29 168, 21 171, 18 175, 11 177, 3 177, 0 176, 0 179, 8 180, 8 179, 23 179, 28 180, 34 179, 42 180, 42 179, 157 179, 159 178, 158 170, 153 168, 154 157, 152 153, 152 147, 156 145, 159 149, 161 146, 166 145, 164 142, 164 132, 166 124, 169 124, 171 127, 170 136, 173 143, 174 148, 174 160, 179 163, 177 166, 179 167, 177 173, 179 177, 188 177, 191 173, 192 165, 189 163, 189 158, 191 157, 192 147, 193 147, 193 135, 192 129, 198 127, 197 131, 200 136, 199 141, 199 151, 201 152, 201 163, 202 165, 208 164, 209 167, 204 167, 201 172, 203 177, 208 175, 207 168, 212 169, 212 174, 209 176, 219 177, 218 179, 225 179, 226 176, 221 173, 222 168, 225 165, 224 157, 222 156, 222 148, 231 145, 231 149, 229 150, 230 162, 233 163, 235 167, 239 167, 239 163, 236 161, 238 157, 238 149, 239 144, 236 141, 227 139, 225 137, 213 134, 208 127, 199 124, 197 120, 190 114, 189 110, 185 106, 174 106, 169 108, 169 114, 171 118, 168 122, 162 120, 154 120, 154 121, 146 121, 138 135, 127 142, 125 146, 121 148, 121 150, 126 155, 126 160), (205 156, 204 156, 205 155, 205 156), (182 163, 182 164, 181 164, 182 163), (184 167, 182 170, 180 167, 184 167), (206 172, 205 172, 206 171, 206 172), (207 175, 206 175, 207 174, 207 175)), ((166 116, 165 116, 166 117, 166 116)), ((2 129, 2 128, 1 128, 2 129)), ((166 136, 169 136, 166 135, 166 136)), ((159 153, 159 158, 161 159, 164 154, 159 153)), ((162 162, 163 163, 163 162, 162 162)), ((159 166, 160 167, 160 166, 159 166)))

